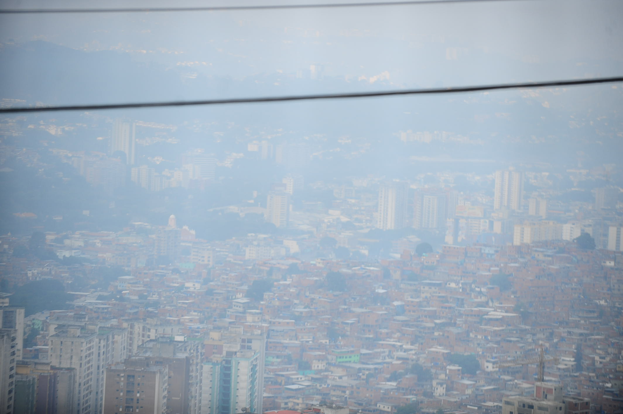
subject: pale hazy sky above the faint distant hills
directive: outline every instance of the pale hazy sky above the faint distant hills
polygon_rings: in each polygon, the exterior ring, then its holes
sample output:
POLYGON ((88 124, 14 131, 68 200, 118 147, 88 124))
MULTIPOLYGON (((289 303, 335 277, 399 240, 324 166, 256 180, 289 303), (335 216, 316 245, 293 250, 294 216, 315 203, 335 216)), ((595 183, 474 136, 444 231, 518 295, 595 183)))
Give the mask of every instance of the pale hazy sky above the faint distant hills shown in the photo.
MULTIPOLYGON (((78 1, 2 3, 4 7, 85 7, 78 1)), ((181 3, 88 2, 89 7, 146 5, 181 3)), ((616 0, 287 11, 9 14, 0 16, 0 41, 39 39, 87 50, 115 48, 127 51, 136 60, 235 78, 277 70, 291 73, 316 64, 323 65, 330 75, 373 78, 386 73, 397 85, 454 85, 620 74, 621 16, 623 2, 616 0), (184 66, 189 62, 197 64, 184 66)))

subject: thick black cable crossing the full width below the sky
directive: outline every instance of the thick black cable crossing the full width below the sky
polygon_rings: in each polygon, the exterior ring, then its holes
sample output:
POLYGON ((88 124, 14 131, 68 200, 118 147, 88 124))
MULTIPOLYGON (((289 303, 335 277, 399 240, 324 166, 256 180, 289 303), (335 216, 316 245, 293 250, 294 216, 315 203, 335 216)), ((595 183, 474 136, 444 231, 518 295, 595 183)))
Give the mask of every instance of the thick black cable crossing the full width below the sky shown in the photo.
POLYGON ((49 112, 49 111, 89 111, 103 109, 124 108, 155 108, 160 106, 191 106, 191 105, 224 105, 227 103, 255 103, 255 102, 282 102, 282 101, 305 101, 316 99, 346 99, 346 98, 371 98, 373 96, 396 96, 396 95, 435 95, 439 93, 459 92, 482 92, 500 89, 531 89, 546 87, 568 87, 574 85, 591 85, 594 83, 623 82, 623 77, 612 78, 588 78, 576 80, 551 80, 546 82, 527 83, 502 83, 500 85, 477 85, 468 87, 430 88, 430 89, 405 89, 378 92, 354 92, 354 93, 324 93, 320 95, 292 95, 292 96, 266 96, 264 98, 231 98, 213 99, 201 101, 163 101, 163 102, 139 102, 139 103, 105 103, 103 105, 66 105, 66 106, 41 106, 39 108, 2 108, 0 113, 18 112, 49 112))

